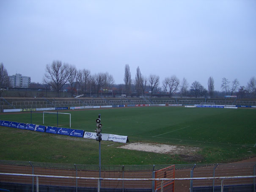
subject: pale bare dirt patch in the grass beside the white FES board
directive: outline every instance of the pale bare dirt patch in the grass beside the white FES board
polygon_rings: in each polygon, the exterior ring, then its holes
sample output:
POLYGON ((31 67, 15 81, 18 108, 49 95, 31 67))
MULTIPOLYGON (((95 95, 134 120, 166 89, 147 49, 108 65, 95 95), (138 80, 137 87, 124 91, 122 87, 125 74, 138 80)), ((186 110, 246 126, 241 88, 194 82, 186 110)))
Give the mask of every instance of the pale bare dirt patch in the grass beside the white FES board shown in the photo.
POLYGON ((190 156, 189 154, 199 151, 199 147, 189 147, 182 145, 165 145, 165 144, 152 144, 152 143, 129 143, 123 145, 120 148, 136 150, 136 151, 146 151, 159 154, 182 154, 190 156))

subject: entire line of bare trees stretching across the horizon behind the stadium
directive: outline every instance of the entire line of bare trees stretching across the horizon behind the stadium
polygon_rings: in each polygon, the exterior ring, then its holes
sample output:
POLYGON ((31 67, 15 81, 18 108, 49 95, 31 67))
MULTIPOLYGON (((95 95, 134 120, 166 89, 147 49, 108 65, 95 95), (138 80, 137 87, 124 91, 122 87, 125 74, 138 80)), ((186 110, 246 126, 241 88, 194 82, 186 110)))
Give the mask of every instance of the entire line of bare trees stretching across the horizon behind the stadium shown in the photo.
MULTIPOLYGON (((180 96, 193 97, 214 97, 216 95, 215 84, 213 77, 208 79, 208 89, 204 88, 200 82, 194 81, 189 86, 186 78, 181 81, 175 75, 165 77, 160 82, 160 77, 155 74, 150 74, 146 77, 141 74, 139 66, 136 69, 135 79, 131 77, 129 64, 124 66, 124 84, 115 85, 114 78, 108 72, 91 74, 88 69, 77 69, 76 66, 69 63, 62 63, 60 60, 54 60, 51 64, 45 67, 43 85, 40 83, 30 83, 30 88, 51 88, 56 91, 57 96, 64 85, 69 85, 69 90, 72 94, 92 93, 99 97, 99 94, 107 94, 115 87, 121 93, 127 96, 145 96, 149 94, 151 97, 157 93, 163 93, 169 97, 179 93, 180 96)), ((256 96, 256 78, 251 77, 247 86, 239 86, 239 81, 234 79, 229 81, 223 77, 221 88, 226 95, 237 94, 240 98, 256 96)), ((4 68, 3 63, 0 64, 0 88, 3 92, 4 88, 10 86, 8 72, 4 68)))

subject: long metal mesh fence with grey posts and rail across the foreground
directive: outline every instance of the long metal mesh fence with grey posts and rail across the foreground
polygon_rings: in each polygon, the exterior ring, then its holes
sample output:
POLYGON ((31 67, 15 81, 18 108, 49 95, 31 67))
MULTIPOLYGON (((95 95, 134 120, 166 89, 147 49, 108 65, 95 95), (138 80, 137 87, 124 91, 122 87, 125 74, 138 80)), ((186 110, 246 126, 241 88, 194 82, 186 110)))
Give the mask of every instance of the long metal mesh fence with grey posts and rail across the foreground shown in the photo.
MULTIPOLYGON (((102 191, 154 191, 155 172, 168 166, 102 165, 102 191)), ((174 191, 219 192, 221 186, 224 191, 229 192, 255 191, 255 168, 256 162, 175 165, 175 178, 172 178, 175 181, 174 191)), ((85 189, 97 191, 99 166, 1 160, 0 173, 56 176, 39 177, 40 191, 73 192, 85 189)), ((32 186, 36 186, 35 177, 0 175, 0 188, 11 189, 10 186, 15 186, 17 189, 24 189, 27 187, 26 191, 33 192, 32 186)), ((157 179, 161 180, 161 178, 157 179)), ((12 191, 19 190, 12 189, 12 191)))

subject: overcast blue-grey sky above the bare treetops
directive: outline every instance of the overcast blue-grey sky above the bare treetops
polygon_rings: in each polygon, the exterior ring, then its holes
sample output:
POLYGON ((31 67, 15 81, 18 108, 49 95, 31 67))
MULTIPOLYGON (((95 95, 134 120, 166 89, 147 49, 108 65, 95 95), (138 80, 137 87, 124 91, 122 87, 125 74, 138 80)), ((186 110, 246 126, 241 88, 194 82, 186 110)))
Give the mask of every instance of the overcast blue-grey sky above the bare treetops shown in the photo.
POLYGON ((0 0, 0 62, 42 82, 53 60, 109 72, 185 77, 215 90, 256 76, 256 0, 0 0))

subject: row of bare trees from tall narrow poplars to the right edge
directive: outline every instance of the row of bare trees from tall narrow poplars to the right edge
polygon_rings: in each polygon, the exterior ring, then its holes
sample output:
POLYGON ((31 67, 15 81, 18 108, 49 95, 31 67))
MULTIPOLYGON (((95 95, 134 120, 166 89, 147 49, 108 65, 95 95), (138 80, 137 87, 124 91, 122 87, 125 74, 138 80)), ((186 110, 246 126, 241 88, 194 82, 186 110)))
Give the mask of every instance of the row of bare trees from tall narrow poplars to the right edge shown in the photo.
MULTIPOLYGON (((149 90, 151 92, 151 96, 154 92, 165 92, 168 93, 169 97, 173 96, 174 93, 178 92, 182 96, 210 96, 213 97, 215 93, 215 85, 213 77, 209 77, 208 79, 208 91, 201 85, 200 82, 194 81, 191 86, 189 87, 189 83, 185 78, 180 80, 175 76, 165 77, 162 81, 162 87, 160 85, 159 76, 157 75, 149 75, 149 77, 145 77, 141 74, 140 68, 136 69, 135 80, 131 80, 131 72, 129 65, 125 65, 125 73, 124 73, 124 84, 125 84, 125 93, 127 95, 131 94, 132 87, 135 87, 135 91, 137 95, 143 94, 145 95, 145 91, 149 90), (132 86, 134 85, 134 86, 132 86)), ((247 87, 240 86, 239 88, 239 81, 234 79, 230 82, 227 78, 222 79, 221 88, 225 91, 226 95, 233 95, 234 93, 249 93, 253 98, 255 97, 256 93, 256 80, 255 77, 252 77, 247 87)))

